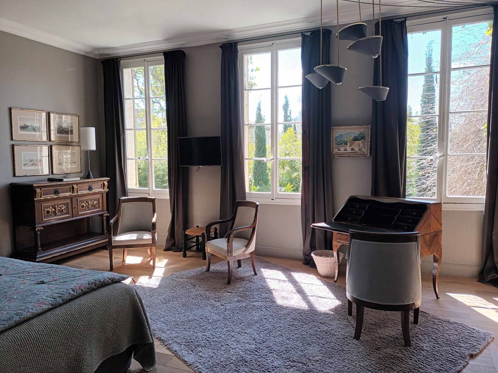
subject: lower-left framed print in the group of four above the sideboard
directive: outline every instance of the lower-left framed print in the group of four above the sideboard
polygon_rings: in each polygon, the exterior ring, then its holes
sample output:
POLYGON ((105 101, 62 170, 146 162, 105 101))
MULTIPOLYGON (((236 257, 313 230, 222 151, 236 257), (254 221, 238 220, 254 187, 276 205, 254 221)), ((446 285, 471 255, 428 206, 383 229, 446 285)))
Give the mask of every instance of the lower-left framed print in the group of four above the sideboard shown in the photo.
POLYGON ((14 176, 49 175, 48 145, 13 145, 14 176))

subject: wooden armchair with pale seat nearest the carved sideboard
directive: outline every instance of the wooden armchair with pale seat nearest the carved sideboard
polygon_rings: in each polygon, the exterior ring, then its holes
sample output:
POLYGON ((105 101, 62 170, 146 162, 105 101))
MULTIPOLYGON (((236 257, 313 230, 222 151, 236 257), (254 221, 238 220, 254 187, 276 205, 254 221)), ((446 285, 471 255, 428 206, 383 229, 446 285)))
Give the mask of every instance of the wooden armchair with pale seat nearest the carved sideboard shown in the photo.
POLYGON ((146 248, 155 268, 156 260, 156 210, 154 197, 122 197, 118 213, 109 222, 109 261, 113 270, 113 250, 146 248))

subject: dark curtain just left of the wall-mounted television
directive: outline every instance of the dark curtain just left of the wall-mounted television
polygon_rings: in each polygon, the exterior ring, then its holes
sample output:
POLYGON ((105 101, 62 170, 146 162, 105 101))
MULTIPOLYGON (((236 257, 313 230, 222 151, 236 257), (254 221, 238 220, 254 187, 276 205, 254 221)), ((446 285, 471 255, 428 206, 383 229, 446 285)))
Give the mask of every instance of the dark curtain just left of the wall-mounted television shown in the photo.
POLYGON ((168 186, 171 221, 164 250, 179 250, 187 229, 188 167, 178 161, 178 137, 187 136, 185 52, 164 52, 166 121, 168 123, 168 186))

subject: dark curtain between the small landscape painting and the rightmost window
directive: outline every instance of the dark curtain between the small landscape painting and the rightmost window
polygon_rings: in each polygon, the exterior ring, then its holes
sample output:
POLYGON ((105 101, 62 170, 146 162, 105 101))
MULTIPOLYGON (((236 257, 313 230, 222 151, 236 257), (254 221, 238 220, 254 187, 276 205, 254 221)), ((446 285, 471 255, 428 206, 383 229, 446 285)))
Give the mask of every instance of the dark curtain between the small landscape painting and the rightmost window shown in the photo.
MULTIPOLYGON (((375 59, 373 85, 389 88, 385 101, 372 108, 372 195, 406 196, 406 116, 408 37, 406 19, 382 21, 382 82, 375 59)), ((375 24, 378 35, 378 22, 375 24)))

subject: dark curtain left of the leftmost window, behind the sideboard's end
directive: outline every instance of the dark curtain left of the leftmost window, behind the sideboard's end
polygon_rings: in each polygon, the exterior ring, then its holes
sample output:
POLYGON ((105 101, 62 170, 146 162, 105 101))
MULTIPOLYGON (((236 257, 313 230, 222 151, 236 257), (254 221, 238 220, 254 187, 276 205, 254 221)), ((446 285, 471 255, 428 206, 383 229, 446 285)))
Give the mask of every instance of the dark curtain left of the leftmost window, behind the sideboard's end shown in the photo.
POLYGON ((107 209, 111 217, 118 210, 118 199, 126 195, 124 177, 124 96, 120 58, 102 61, 104 70, 104 119, 106 124, 106 176, 109 180, 107 209))

